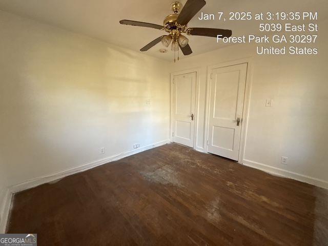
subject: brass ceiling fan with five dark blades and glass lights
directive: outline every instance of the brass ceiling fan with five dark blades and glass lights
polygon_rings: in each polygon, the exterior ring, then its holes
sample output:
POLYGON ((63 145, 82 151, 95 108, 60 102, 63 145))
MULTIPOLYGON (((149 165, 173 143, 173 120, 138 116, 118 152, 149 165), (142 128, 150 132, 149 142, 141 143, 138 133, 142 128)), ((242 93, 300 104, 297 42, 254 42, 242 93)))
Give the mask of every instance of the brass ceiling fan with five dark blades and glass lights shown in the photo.
MULTIPOLYGON (((186 5, 182 8, 182 4, 179 2, 174 2, 171 4, 171 9, 173 14, 165 17, 163 26, 146 23, 146 22, 136 22, 134 20, 122 19, 120 24, 139 26, 139 27, 149 27, 159 30, 163 30, 169 33, 169 35, 162 35, 152 42, 150 42, 145 47, 142 47, 140 51, 147 51, 154 45, 161 42, 165 47, 169 47, 172 42, 171 50, 174 51, 174 62, 175 62, 175 52, 179 51, 179 47, 183 55, 190 55, 192 50, 188 44, 189 40, 186 36, 181 33, 186 33, 187 35, 197 35, 197 36, 208 36, 217 37, 221 35, 223 37, 230 37, 232 35, 231 30, 218 29, 218 28, 187 28, 189 21, 198 13, 198 11, 206 5, 204 0, 188 0, 186 5), (182 10, 180 11, 180 9, 182 10)), ((178 53, 179 60, 179 53, 178 53)))

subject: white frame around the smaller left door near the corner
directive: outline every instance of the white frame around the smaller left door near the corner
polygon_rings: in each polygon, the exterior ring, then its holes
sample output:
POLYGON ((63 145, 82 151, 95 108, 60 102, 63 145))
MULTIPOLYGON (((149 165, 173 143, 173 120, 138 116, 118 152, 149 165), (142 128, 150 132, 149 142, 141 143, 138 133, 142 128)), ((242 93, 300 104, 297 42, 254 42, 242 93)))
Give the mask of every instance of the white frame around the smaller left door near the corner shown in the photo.
MULTIPOLYGON (((195 120, 195 125, 194 125, 194 149, 197 149, 197 136, 198 136, 198 111, 199 111, 199 86, 200 86, 200 81, 199 81, 199 74, 200 74, 200 68, 193 68, 193 69, 187 69, 187 70, 181 70, 178 72, 173 72, 171 73, 171 78, 170 78, 170 141, 173 142, 173 77, 176 75, 183 75, 187 73, 196 73, 196 98, 195 98, 195 112, 194 112, 194 120, 195 120)), ((203 150, 199 150, 203 152, 203 150)))

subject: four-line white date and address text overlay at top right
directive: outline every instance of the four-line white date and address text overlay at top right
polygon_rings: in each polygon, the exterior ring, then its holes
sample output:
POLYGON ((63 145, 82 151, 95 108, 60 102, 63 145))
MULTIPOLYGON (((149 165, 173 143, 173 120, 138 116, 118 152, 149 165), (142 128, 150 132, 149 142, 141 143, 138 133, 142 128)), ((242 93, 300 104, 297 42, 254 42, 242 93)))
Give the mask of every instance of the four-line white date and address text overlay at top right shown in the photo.
MULTIPOLYGON (((247 22, 258 25, 256 34, 242 36, 217 36, 217 43, 256 44, 259 55, 316 55, 319 25, 318 12, 201 12, 199 20, 218 20, 220 22, 247 22)), ((228 26, 228 25, 227 25, 228 26)))

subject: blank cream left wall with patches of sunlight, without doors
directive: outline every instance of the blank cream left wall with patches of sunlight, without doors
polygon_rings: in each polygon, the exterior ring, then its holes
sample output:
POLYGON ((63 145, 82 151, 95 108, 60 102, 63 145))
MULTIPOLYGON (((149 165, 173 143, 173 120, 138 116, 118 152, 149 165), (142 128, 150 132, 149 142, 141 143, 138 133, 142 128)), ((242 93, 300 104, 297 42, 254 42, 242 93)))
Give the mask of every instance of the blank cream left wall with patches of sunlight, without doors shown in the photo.
POLYGON ((167 61, 5 12, 0 36, 8 186, 169 139, 167 61))

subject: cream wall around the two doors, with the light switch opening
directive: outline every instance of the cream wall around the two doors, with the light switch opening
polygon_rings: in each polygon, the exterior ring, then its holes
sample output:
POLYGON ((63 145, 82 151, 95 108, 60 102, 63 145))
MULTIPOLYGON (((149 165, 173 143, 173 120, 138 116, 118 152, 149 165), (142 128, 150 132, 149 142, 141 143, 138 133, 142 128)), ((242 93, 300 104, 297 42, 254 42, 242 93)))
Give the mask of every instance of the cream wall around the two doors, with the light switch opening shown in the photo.
POLYGON ((206 140, 207 67, 252 57, 243 162, 328 188, 327 36, 321 28, 316 56, 260 56, 251 45, 234 45, 172 64, 171 72, 200 69, 197 147, 202 148, 206 140), (267 98, 273 99, 273 107, 264 107, 267 98), (289 157, 288 165, 281 165, 281 156, 289 157))

